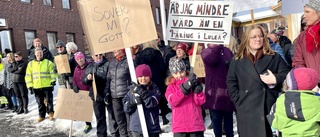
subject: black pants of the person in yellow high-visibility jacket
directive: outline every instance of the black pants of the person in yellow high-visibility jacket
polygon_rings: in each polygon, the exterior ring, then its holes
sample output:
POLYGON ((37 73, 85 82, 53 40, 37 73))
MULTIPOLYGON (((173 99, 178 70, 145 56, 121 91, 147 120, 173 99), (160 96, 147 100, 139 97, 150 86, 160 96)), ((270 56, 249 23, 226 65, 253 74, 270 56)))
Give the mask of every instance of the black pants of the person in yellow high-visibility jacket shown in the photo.
POLYGON ((40 117, 44 118, 46 113, 54 112, 52 88, 34 89, 34 94, 38 103, 40 117), (47 106, 44 104, 44 98, 46 98, 47 106))

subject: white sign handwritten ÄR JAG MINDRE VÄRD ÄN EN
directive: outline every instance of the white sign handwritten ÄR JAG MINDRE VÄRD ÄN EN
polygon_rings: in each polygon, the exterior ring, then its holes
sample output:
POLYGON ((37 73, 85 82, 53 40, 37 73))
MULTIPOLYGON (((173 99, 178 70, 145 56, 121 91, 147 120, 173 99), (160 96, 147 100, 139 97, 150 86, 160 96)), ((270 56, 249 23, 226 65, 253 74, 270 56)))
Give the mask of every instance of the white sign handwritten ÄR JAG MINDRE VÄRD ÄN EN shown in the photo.
POLYGON ((232 9, 231 2, 171 1, 167 39, 228 44, 232 9))

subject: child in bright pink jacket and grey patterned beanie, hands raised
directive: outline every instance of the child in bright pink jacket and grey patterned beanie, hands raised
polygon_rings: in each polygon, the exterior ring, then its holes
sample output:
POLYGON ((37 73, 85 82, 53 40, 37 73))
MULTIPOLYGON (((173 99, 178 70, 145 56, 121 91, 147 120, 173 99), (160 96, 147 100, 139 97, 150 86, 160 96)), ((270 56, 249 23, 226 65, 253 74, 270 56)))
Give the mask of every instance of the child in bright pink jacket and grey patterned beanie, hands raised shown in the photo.
POLYGON ((172 132, 174 137, 203 137, 205 131, 201 105, 206 101, 203 88, 197 76, 188 77, 186 66, 181 59, 171 58, 167 78, 166 98, 172 106, 172 132))

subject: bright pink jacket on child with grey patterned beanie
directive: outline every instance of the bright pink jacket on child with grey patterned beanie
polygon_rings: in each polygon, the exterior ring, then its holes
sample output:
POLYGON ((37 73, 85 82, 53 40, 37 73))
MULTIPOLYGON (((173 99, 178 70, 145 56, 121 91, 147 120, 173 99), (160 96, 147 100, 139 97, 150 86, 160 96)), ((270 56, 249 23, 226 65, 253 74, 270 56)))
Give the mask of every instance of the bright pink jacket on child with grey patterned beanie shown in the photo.
POLYGON ((204 127, 201 105, 206 102, 203 92, 195 94, 191 92, 185 96, 180 85, 187 81, 171 79, 167 87, 166 98, 172 107, 172 132, 198 132, 206 130, 204 127))

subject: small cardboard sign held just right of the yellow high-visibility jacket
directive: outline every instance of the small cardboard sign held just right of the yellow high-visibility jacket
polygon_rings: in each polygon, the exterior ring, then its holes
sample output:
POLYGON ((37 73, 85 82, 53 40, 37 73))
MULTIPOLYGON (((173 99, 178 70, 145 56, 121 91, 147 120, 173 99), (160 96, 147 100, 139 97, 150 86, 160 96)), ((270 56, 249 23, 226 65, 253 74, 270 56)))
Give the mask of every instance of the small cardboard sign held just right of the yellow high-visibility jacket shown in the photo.
POLYGON ((54 62, 56 64, 58 74, 71 73, 68 55, 54 56, 54 62))

